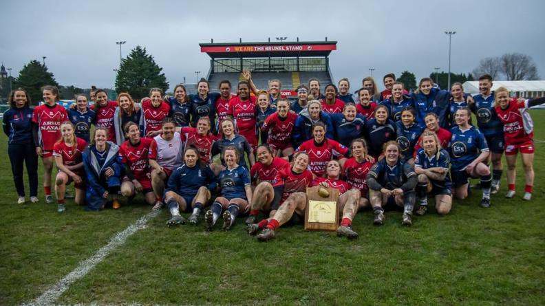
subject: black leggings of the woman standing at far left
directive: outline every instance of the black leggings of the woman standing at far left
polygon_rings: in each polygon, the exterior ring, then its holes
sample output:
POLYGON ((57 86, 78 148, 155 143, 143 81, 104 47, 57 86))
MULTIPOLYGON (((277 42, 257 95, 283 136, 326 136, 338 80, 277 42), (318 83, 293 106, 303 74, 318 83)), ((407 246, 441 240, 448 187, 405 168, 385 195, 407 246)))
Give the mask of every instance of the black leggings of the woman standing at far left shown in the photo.
POLYGON ((8 155, 12 164, 13 181, 19 197, 25 196, 23 164, 27 166, 30 196, 38 196, 38 155, 36 155, 34 144, 9 144, 8 155))

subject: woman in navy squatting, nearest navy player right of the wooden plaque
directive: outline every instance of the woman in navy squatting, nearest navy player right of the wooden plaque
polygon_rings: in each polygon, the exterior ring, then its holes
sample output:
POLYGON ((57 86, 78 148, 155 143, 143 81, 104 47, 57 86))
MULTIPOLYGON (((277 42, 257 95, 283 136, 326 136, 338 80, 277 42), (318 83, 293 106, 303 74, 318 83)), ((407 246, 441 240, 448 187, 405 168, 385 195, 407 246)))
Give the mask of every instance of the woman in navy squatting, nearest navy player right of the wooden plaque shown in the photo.
POLYGON ((418 179, 414 168, 403 162, 399 144, 390 140, 384 144, 384 158, 379 160, 367 175, 369 197, 374 211, 374 224, 381 226, 384 223, 383 206, 394 203, 403 206, 403 225, 412 225, 414 208, 414 188, 418 179))

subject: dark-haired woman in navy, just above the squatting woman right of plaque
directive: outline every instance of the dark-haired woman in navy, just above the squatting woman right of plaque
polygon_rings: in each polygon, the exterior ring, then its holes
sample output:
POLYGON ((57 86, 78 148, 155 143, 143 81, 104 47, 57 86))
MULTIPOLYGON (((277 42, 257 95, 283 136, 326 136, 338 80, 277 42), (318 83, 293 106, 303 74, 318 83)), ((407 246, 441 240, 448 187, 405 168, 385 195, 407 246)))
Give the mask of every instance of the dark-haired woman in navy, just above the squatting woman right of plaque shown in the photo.
POLYGON ((384 105, 377 105, 375 117, 365 122, 365 140, 369 144, 369 155, 375 160, 381 155, 383 144, 396 140, 396 123, 388 118, 388 109, 384 105))

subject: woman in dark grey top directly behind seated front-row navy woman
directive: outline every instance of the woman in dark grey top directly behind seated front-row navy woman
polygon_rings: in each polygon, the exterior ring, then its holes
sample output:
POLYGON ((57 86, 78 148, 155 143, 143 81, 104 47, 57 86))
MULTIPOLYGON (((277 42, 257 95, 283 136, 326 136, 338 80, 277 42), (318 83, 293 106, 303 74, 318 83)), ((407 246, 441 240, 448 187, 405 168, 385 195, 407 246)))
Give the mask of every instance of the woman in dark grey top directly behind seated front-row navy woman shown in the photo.
MULTIPOLYGON (((235 123, 233 120, 226 118, 222 121, 220 124, 220 133, 222 135, 222 138, 215 141, 214 144, 212 144, 212 152, 211 157, 214 157, 217 154, 222 153, 222 151, 227 146, 235 146, 237 148, 237 156, 239 156, 239 160, 237 161, 237 164, 240 166, 249 168, 246 166, 246 160, 244 160, 244 153, 248 155, 248 160, 250 161, 250 167, 255 164, 255 157, 253 155, 253 149, 252 146, 248 143, 248 140, 244 138, 244 136, 239 135, 236 133, 235 130, 235 123)), ((225 167, 226 163, 225 160, 223 160, 223 155, 220 156, 220 160, 222 161, 222 165, 225 167)), ((212 159, 211 159, 212 162, 212 159)), ((222 168, 220 168, 222 170, 222 168)))

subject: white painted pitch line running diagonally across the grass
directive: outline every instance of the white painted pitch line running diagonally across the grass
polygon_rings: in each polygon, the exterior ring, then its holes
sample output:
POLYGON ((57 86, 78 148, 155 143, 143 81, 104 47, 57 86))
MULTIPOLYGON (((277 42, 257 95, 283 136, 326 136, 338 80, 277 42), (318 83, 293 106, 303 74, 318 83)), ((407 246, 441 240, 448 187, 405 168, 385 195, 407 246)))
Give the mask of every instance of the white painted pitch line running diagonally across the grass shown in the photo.
POLYGON ((127 238, 134 234, 136 231, 145 228, 146 223, 157 217, 160 210, 153 210, 149 212, 144 217, 136 220, 135 223, 131 224, 128 228, 125 228, 122 232, 118 232, 114 238, 112 238, 109 243, 103 248, 100 248, 93 256, 82 261, 76 269, 72 270, 69 274, 66 274, 58 283, 56 283, 50 289, 43 292, 41 296, 35 300, 30 301, 29 303, 23 303, 21 306, 30 306, 30 305, 54 305, 55 301, 78 279, 87 275, 98 263, 103 261, 105 257, 114 249, 118 248, 120 245, 127 241, 127 238))

